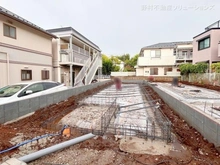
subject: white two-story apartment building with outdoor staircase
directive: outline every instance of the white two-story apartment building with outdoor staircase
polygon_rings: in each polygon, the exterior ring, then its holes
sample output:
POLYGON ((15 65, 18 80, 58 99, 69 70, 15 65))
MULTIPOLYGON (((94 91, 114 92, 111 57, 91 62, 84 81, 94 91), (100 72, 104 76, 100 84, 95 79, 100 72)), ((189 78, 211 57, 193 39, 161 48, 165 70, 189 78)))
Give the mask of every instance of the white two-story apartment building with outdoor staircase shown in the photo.
POLYGON ((90 84, 96 71, 101 72, 100 48, 72 27, 47 30, 53 39, 54 80, 67 86, 90 84))

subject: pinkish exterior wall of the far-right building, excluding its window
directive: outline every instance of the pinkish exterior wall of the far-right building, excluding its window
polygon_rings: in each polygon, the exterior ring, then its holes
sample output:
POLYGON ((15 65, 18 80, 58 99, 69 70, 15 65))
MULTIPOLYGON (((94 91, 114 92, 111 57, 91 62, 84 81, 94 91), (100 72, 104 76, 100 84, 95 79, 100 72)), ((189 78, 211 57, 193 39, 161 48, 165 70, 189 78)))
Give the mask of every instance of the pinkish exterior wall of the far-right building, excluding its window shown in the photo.
POLYGON ((212 29, 193 39, 193 63, 202 61, 220 61, 218 57, 218 43, 220 41, 220 30, 212 29), (210 47, 198 50, 198 41, 210 36, 210 47))

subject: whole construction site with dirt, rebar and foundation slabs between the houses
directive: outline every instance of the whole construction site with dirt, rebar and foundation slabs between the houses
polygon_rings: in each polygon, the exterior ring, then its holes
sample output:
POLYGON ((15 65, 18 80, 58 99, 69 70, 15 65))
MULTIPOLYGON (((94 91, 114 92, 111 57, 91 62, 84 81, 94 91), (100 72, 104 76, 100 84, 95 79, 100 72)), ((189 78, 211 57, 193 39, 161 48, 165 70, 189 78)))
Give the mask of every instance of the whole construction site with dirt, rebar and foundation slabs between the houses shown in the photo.
POLYGON ((0 163, 17 158, 30 165, 220 164, 218 142, 168 105, 171 97, 219 123, 218 87, 134 81, 118 89, 106 81, 0 125, 0 163))

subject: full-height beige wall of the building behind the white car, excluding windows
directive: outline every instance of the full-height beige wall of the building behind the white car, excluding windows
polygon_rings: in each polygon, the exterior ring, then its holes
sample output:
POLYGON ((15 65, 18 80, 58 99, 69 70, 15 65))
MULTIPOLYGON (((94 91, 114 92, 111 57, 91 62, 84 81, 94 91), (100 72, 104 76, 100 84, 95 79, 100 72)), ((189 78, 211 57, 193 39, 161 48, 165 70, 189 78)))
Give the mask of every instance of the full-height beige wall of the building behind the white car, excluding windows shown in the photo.
POLYGON ((23 69, 32 70, 29 81, 42 80, 42 70, 49 70, 49 80, 52 80, 51 36, 1 14, 0 32, 0 87, 24 82, 21 80, 23 69), (3 35, 4 23, 16 28, 16 39, 3 35))

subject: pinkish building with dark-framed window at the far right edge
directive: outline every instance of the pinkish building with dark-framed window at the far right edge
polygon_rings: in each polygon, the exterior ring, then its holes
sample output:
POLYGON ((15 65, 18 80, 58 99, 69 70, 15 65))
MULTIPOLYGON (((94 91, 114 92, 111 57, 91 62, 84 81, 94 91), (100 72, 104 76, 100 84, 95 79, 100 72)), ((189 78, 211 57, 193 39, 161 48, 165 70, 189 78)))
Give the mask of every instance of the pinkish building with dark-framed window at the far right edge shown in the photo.
POLYGON ((220 21, 205 28, 205 31, 193 37, 193 63, 220 61, 220 21))

